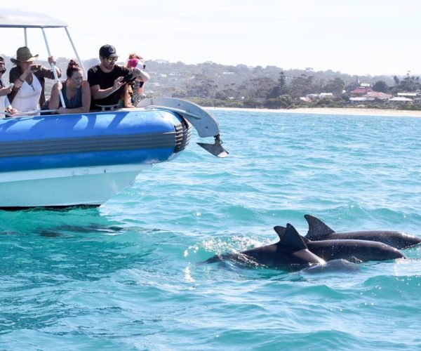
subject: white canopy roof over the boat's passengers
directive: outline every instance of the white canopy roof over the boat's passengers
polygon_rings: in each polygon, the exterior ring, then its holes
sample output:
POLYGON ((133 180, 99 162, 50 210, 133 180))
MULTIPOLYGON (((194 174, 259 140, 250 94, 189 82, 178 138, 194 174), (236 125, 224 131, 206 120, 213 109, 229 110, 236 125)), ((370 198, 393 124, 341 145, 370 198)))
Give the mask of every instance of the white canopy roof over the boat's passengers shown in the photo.
POLYGON ((67 23, 36 12, 0 8, 0 28, 63 28, 67 23))

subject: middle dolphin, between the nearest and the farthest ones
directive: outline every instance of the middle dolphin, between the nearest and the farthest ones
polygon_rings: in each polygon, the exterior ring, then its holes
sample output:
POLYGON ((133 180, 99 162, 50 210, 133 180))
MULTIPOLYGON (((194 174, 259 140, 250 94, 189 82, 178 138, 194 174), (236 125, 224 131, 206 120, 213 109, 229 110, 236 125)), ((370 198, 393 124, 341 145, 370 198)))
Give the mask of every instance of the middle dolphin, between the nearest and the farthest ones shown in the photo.
MULTIPOLYGON (((279 237, 286 233, 286 228, 274 227, 279 237)), ((311 241, 302 237, 309 251, 323 260, 347 260, 352 263, 366 261, 394 260, 396 258, 406 258, 401 251, 392 246, 377 241, 336 239, 311 241)))

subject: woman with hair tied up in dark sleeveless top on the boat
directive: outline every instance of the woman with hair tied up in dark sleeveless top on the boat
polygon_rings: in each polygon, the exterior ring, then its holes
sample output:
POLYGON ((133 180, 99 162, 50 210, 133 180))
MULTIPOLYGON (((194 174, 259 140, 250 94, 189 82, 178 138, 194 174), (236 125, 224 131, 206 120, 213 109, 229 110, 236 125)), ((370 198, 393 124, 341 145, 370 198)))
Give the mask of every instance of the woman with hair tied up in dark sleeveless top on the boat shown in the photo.
POLYGON ((67 65, 67 79, 58 81, 51 89, 51 98, 47 100, 41 110, 57 110, 58 114, 86 113, 91 107, 91 89, 83 80, 83 71, 74 60, 67 65), (62 107, 60 91, 66 107, 62 107))

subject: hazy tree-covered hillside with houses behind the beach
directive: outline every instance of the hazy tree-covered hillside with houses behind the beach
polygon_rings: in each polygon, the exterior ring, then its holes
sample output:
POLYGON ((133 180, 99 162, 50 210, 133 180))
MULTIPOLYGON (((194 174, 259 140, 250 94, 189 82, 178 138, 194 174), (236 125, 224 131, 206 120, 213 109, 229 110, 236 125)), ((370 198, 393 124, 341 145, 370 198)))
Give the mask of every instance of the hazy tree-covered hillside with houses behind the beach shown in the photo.
POLYGON ((147 62, 151 95, 187 98, 214 107, 367 107, 396 110, 421 110, 420 77, 408 72, 398 76, 361 76, 341 72, 306 69, 265 68, 246 65, 218 65, 203 62, 147 62), (392 98, 410 93, 411 98, 389 100, 369 98, 354 101, 359 85, 368 91, 387 93, 392 98), (309 98, 310 97, 310 98, 309 98))

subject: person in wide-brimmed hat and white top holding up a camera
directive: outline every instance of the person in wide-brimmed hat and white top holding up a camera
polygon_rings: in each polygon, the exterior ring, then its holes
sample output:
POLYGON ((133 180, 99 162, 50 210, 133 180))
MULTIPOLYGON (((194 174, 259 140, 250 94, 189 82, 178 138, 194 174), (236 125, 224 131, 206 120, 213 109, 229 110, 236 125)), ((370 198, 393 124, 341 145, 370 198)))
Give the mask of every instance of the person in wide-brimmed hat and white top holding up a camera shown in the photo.
MULTIPOLYGON (((8 99, 13 108, 18 111, 39 110, 39 107, 46 101, 45 79, 54 79, 54 73, 53 69, 34 64, 38 56, 32 55, 27 46, 22 46, 16 51, 16 58, 11 58, 16 67, 11 69, 9 81, 15 85, 12 92, 8 94, 8 99)), ((48 58, 48 62, 50 65, 55 65, 53 56, 48 58)), ((61 69, 55 67, 55 71, 60 78, 61 69)))

